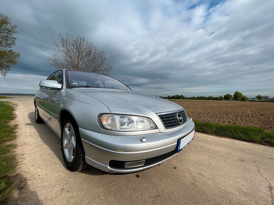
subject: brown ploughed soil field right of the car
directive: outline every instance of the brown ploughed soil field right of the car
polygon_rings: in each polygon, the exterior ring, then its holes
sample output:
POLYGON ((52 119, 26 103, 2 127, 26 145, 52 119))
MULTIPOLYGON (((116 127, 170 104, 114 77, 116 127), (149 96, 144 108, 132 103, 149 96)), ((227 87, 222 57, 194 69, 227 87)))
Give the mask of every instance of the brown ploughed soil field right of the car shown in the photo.
POLYGON ((264 127, 274 132, 274 103, 236 101, 175 101, 197 121, 264 127))

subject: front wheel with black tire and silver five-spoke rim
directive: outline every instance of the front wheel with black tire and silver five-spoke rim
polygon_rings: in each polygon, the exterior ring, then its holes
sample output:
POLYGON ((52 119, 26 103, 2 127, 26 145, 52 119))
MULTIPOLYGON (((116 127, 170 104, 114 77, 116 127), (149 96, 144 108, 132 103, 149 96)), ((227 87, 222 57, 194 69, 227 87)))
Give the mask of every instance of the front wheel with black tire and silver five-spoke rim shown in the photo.
POLYGON ((62 123, 61 150, 65 165, 70 171, 80 171, 88 167, 79 127, 72 118, 62 123))

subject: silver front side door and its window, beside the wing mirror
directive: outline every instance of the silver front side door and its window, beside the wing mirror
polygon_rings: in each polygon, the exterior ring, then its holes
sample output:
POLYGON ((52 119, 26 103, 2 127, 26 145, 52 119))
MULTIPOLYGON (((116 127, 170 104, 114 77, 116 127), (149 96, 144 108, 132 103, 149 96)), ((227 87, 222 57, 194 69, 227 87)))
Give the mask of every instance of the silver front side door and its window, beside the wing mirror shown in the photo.
MULTIPOLYGON (((58 83, 63 84, 63 71, 56 71, 49 76, 47 80, 56 80, 58 83)), ((43 119, 46 121, 55 131, 57 130, 57 107, 55 100, 60 90, 40 88, 41 94, 41 108, 43 109, 43 119)))

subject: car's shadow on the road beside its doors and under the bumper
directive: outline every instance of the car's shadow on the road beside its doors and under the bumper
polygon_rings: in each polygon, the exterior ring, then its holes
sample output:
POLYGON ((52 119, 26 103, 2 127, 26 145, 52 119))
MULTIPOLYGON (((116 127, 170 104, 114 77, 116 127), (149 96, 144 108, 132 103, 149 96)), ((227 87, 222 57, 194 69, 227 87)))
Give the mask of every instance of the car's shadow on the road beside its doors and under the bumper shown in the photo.
MULTIPOLYGON (((67 169, 64 161, 63 155, 61 151, 61 140, 60 138, 46 125, 46 124, 37 124, 35 123, 34 112, 30 112, 29 120, 31 123, 26 123, 25 125, 33 126, 37 131, 40 139, 50 148, 50 150, 55 154, 60 163, 63 165, 65 169, 67 169)), ((68 170, 68 169, 67 169, 68 170)), ((97 170, 95 168, 84 169, 80 171, 80 173, 89 174, 89 175, 105 175, 108 173, 104 173, 103 171, 97 170)))

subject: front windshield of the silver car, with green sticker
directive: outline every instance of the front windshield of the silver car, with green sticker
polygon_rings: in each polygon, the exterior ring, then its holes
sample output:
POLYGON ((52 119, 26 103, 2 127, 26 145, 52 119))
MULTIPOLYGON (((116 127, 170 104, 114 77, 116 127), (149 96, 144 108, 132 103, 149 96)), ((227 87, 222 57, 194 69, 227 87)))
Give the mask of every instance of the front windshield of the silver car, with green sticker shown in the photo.
POLYGON ((110 88, 131 90, 122 82, 105 75, 85 71, 67 71, 69 88, 110 88))

